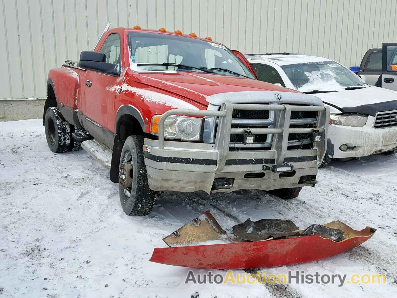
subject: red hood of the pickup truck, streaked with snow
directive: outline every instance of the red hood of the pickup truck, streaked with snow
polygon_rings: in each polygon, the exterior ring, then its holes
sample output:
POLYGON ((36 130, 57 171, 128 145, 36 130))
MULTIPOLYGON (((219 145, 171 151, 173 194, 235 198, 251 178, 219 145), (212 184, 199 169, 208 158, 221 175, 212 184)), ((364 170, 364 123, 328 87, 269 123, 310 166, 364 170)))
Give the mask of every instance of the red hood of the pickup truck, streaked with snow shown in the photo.
POLYGON ((166 92, 185 97, 204 106, 208 106, 208 97, 220 93, 242 92, 242 91, 273 91, 298 93, 299 91, 280 87, 244 77, 231 75, 218 75, 207 73, 177 72, 177 73, 154 73, 141 72, 133 74, 134 80, 162 89, 166 92))

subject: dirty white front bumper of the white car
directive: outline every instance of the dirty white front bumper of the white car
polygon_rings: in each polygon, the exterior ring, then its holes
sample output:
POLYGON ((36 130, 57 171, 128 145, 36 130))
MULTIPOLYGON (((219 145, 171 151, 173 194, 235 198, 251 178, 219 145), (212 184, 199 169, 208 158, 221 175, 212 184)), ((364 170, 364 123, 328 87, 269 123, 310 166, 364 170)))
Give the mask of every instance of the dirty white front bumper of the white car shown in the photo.
POLYGON ((331 158, 363 157, 397 149, 397 126, 376 129, 373 127, 375 118, 368 116, 363 127, 330 125, 328 128, 327 154, 331 158), (342 144, 348 150, 341 151, 342 144))

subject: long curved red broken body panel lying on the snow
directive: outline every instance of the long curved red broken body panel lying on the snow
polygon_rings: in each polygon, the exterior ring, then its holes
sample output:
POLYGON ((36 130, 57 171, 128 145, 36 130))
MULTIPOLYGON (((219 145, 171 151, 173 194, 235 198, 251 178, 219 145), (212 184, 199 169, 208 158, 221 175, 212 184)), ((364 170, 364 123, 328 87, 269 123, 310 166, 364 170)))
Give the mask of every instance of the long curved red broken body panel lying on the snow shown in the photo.
POLYGON ((335 242, 319 235, 254 242, 155 248, 150 261, 206 269, 277 267, 316 261, 346 252, 372 237, 376 229, 353 230, 334 221, 324 226, 343 231, 345 240, 335 242))

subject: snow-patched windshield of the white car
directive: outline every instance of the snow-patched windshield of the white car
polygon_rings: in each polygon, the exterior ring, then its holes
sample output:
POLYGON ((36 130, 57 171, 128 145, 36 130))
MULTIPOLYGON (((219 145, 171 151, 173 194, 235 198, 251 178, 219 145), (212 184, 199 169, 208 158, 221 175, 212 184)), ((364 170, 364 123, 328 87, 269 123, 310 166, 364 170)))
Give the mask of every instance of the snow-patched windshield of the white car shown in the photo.
MULTIPOLYGON (((339 91, 347 87, 365 87, 364 81, 334 61, 281 66, 298 91, 339 91)), ((349 89, 347 89, 349 90, 349 89)))

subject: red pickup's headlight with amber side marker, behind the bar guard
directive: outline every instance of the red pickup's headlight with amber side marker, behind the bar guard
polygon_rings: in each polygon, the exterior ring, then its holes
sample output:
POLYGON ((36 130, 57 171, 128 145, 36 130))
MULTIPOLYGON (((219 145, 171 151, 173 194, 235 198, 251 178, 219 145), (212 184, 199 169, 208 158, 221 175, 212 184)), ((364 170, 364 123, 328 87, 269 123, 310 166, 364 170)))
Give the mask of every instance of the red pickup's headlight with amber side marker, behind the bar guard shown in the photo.
MULTIPOLYGON (((162 115, 152 118, 151 132, 158 135, 158 122, 162 115)), ((170 116, 164 122, 164 137, 166 139, 182 139, 197 141, 200 139, 202 118, 170 116)))

